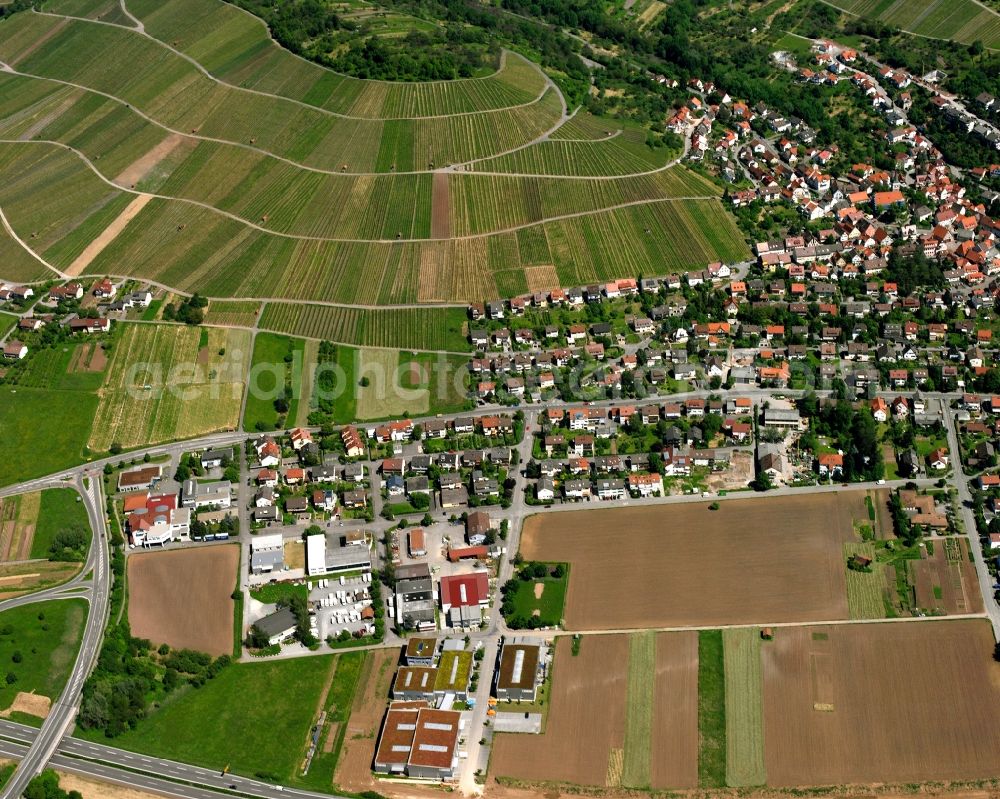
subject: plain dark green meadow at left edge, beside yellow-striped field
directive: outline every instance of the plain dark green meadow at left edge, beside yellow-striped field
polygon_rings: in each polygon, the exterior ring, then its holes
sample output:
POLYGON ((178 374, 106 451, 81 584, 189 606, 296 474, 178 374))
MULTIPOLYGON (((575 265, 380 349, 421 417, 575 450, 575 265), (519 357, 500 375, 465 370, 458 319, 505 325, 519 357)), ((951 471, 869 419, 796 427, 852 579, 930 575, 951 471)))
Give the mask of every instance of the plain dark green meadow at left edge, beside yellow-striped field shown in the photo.
POLYGON ((97 395, 0 387, 4 457, 0 485, 58 472, 84 460, 97 395))

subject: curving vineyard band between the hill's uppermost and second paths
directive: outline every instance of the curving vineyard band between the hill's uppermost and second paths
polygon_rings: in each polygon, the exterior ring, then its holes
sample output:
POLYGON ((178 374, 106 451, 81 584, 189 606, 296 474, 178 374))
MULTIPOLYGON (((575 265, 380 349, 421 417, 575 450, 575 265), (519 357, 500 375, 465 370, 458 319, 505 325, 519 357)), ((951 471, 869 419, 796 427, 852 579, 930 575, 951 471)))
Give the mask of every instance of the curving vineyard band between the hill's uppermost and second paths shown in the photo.
MULTIPOLYGON (((240 89, 206 78, 186 61, 172 61, 174 56, 169 50, 151 51, 142 37, 122 38, 119 33, 127 34, 129 29, 117 25, 23 14, 13 17, 0 30, 4 33, 0 52, 10 62, 5 71, 16 65, 22 68, 22 75, 42 77, 39 73, 45 73, 44 77, 63 80, 66 70, 70 70, 72 77, 83 82, 64 81, 66 85, 96 89, 113 99, 119 99, 118 93, 126 94, 124 103, 146 107, 180 128, 200 133, 207 127, 209 132, 249 140, 264 153, 270 154, 267 147, 271 146, 298 155, 313 166, 342 171, 350 162, 356 173, 367 172, 376 164, 382 164, 385 172, 403 172, 407 170, 402 166, 395 169, 396 162, 403 158, 406 166, 418 153, 420 159, 429 156, 431 169, 435 161, 460 164, 503 155, 544 139, 562 124, 566 114, 561 92, 548 84, 535 103, 499 111, 412 120, 324 118, 314 106, 282 107, 292 101, 281 97, 270 98, 272 103, 257 97, 241 98, 240 89), (92 36, 89 28, 95 25, 103 32, 92 36), (43 45, 40 49, 39 42, 43 45), (109 51, 117 53, 118 63, 102 55, 109 51), (97 70, 97 61, 104 65, 103 69, 97 70), (136 61, 147 64, 147 68, 134 69, 136 61), (234 126, 236 133, 232 133, 234 126), (400 126, 407 128, 403 144, 408 150, 398 150, 400 126)), ((232 138, 217 140, 236 143, 232 138)), ((294 158, 292 163, 296 163, 294 158)))

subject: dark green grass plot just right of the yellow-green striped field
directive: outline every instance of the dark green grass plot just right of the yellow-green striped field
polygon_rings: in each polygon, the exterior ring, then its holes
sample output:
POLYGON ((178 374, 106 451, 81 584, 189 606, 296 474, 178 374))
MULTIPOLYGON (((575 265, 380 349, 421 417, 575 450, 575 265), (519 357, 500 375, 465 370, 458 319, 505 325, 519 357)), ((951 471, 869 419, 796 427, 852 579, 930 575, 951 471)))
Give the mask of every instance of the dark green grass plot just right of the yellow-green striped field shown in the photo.
POLYGON ((258 333, 254 340, 253 361, 250 366, 250 390, 243 413, 244 430, 274 430, 278 425, 278 411, 274 400, 280 393, 281 380, 285 381, 288 401, 286 419, 295 419, 299 392, 302 388, 303 353, 305 342, 275 333, 258 333), (291 356, 290 360, 286 360, 291 356))

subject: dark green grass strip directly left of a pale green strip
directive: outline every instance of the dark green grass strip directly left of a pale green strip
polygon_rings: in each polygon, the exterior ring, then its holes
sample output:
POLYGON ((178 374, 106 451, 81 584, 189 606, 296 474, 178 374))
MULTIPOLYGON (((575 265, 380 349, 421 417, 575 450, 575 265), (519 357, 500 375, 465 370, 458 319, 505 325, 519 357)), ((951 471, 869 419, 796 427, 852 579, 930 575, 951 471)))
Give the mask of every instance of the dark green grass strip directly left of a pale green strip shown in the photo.
POLYGON ((698 631, 698 787, 726 784, 726 664, 721 630, 698 631))

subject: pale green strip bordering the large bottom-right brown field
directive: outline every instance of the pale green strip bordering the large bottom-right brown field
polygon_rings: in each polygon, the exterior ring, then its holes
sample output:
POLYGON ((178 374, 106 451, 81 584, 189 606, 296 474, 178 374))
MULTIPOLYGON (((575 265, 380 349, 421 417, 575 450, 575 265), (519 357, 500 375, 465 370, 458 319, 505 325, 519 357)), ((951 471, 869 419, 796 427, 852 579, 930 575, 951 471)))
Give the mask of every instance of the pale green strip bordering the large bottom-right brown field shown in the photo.
POLYGON ((763 785, 764 676, 756 627, 722 633, 726 664, 726 783, 734 788, 763 785))

